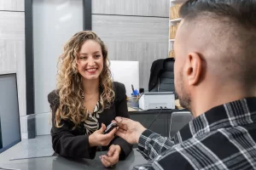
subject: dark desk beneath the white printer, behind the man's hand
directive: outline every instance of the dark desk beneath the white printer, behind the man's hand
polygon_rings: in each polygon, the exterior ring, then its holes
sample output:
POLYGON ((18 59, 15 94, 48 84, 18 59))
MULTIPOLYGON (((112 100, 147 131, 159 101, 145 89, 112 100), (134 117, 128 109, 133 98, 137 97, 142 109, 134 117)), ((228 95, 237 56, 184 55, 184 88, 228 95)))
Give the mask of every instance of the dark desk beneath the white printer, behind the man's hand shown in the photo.
MULTIPOLYGON (((159 133, 162 136, 169 136, 169 128, 171 123, 172 112, 176 111, 187 111, 187 110, 162 110, 160 116, 155 120, 155 122, 149 128, 154 131, 154 133, 159 133)), ((160 110, 143 111, 137 109, 137 111, 129 111, 130 118, 134 121, 142 123, 146 128, 154 121, 154 118, 159 114, 160 110)))

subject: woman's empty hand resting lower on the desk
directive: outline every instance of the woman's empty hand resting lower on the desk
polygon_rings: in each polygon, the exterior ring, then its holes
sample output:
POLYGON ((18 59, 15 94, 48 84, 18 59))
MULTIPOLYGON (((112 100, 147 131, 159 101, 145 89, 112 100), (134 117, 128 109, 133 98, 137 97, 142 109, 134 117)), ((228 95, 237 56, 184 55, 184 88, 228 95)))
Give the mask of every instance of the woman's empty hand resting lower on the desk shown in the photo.
POLYGON ((100 156, 104 167, 112 167, 119 162, 119 154, 121 153, 121 147, 119 145, 112 144, 109 147, 108 154, 100 156))

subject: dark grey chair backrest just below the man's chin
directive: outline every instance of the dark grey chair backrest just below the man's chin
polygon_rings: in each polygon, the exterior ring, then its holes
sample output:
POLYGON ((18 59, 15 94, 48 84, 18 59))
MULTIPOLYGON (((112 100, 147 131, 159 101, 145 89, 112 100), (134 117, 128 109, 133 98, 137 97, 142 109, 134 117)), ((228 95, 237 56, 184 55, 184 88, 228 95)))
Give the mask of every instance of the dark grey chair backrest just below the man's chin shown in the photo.
POLYGON ((180 129, 193 119, 189 111, 172 112, 171 123, 169 129, 169 138, 171 139, 180 129))

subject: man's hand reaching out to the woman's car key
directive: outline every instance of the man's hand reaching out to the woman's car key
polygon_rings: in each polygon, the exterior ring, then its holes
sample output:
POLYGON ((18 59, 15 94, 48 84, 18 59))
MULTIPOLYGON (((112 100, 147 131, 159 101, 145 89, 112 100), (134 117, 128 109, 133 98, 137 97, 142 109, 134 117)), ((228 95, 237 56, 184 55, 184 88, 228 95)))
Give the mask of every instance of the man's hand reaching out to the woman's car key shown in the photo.
POLYGON ((130 144, 137 144, 141 134, 146 130, 141 123, 125 117, 116 117, 115 120, 119 125, 115 134, 130 144))

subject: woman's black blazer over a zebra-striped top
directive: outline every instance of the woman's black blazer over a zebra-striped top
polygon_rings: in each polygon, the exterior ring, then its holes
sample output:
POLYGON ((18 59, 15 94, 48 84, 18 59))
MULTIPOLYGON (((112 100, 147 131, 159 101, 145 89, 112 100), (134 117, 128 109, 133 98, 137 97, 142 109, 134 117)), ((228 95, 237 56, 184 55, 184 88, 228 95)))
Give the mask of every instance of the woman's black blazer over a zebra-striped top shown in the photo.
MULTIPOLYGON (((116 116, 130 117, 127 110, 125 86, 119 82, 113 82, 113 90, 115 93, 115 99, 113 105, 100 113, 99 127, 102 126, 102 122, 108 126, 116 116)), ((61 156, 71 156, 76 158, 94 159, 96 156, 96 150, 98 147, 89 146, 89 135, 85 133, 85 129, 82 123, 79 127, 73 128, 73 122, 67 120, 61 120, 62 127, 55 127, 55 111, 60 105, 60 97, 54 90, 48 94, 48 101, 52 110, 52 146, 55 153, 61 156)), ((119 159, 125 159, 132 150, 132 145, 127 143, 125 139, 115 137, 111 144, 119 144, 122 151, 119 159)), ((108 150, 108 147, 102 147, 103 150, 108 150)))

